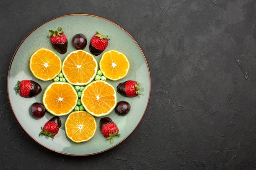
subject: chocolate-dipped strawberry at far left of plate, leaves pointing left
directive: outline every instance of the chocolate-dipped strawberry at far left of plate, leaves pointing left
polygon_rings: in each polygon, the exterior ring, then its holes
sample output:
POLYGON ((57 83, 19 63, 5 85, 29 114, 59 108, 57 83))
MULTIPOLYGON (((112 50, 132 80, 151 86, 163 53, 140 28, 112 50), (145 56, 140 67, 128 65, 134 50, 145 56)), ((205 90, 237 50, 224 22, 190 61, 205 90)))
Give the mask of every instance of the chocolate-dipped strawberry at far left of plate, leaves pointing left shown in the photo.
POLYGON ((18 86, 16 87, 16 92, 20 96, 25 98, 31 98, 38 95, 42 91, 42 87, 32 80, 22 80, 18 81, 18 86))

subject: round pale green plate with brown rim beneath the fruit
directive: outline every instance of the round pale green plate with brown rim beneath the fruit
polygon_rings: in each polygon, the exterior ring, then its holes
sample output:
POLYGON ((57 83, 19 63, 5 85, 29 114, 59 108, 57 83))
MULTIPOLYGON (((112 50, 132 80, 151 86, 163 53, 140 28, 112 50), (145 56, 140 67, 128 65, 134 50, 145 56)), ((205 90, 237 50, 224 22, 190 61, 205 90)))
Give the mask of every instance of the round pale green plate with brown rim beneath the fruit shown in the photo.
MULTIPOLYGON (((100 58, 101 55, 96 56, 98 62, 100 58)), ((64 155, 75 156, 102 153, 114 148, 131 135, 144 117, 148 107, 150 90, 151 80, 148 63, 137 42, 129 33, 114 22, 103 17, 88 14, 63 15, 53 18, 34 29, 25 37, 14 53, 7 78, 7 91, 11 109, 24 131, 26 131, 32 139, 49 150, 64 155), (65 54, 59 54, 54 50, 49 41, 49 37, 47 37, 49 29, 57 30, 58 26, 62 27, 68 39, 68 48, 65 54), (29 108, 34 102, 42 103, 43 92, 52 81, 40 81, 33 76, 29 70, 29 59, 31 55, 39 48, 48 48, 56 52, 63 61, 68 53, 75 50, 72 46, 72 38, 77 33, 83 33, 87 37, 88 43, 84 50, 89 52, 90 39, 96 31, 99 31, 103 35, 108 35, 108 38, 110 38, 106 50, 118 50, 123 52, 130 61, 130 70, 127 76, 119 81, 107 80, 108 83, 112 84, 115 88, 119 83, 127 80, 138 81, 141 84, 142 95, 140 97, 127 98, 117 94, 117 101, 126 100, 131 105, 130 112, 126 116, 118 116, 115 111, 112 111, 106 116, 110 117, 113 122, 117 124, 121 137, 115 137, 114 143, 111 144, 109 140, 106 140, 106 138, 101 135, 99 127, 100 118, 96 118, 97 131, 94 137, 87 142, 79 144, 74 143, 65 135, 64 124, 67 116, 60 117, 62 126, 54 139, 43 135, 39 137, 41 127, 45 122, 51 119, 53 115, 46 113, 43 118, 39 120, 34 119, 29 113, 29 108), (25 79, 39 83, 42 87, 42 92, 34 98, 23 98, 19 94, 16 94, 14 88, 17 82, 25 79)))

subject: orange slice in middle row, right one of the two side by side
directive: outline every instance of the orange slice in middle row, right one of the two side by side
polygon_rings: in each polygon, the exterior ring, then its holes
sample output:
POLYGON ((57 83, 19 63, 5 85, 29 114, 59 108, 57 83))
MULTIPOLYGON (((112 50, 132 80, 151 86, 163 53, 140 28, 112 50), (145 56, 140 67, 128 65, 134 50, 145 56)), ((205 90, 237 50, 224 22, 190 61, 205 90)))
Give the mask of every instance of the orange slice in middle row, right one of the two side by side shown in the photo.
POLYGON ((106 116, 117 105, 117 92, 106 81, 93 81, 83 89, 81 103, 85 110, 93 116, 106 116))

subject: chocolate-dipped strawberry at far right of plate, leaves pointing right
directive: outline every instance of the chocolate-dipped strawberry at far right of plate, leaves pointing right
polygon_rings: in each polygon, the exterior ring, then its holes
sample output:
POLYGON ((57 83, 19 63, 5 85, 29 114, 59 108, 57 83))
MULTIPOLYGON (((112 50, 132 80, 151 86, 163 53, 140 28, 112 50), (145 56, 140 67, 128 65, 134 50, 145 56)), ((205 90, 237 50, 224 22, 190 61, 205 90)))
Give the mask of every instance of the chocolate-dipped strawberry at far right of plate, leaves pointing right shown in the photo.
POLYGON ((119 83, 117 86, 117 92, 126 97, 135 97, 139 93, 139 83, 136 81, 125 81, 124 83, 119 83))

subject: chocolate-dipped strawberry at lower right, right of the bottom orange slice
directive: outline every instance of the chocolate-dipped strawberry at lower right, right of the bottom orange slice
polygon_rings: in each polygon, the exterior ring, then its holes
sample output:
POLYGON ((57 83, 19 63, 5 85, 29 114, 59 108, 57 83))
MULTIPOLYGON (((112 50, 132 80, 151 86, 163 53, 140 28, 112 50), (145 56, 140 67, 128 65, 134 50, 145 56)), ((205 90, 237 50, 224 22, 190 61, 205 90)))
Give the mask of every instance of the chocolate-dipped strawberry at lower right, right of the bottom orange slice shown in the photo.
POLYGON ((111 144, 114 142, 113 137, 120 136, 119 129, 117 125, 112 122, 110 118, 101 118, 100 120, 100 127, 101 127, 101 134, 107 138, 107 140, 110 139, 111 144))

